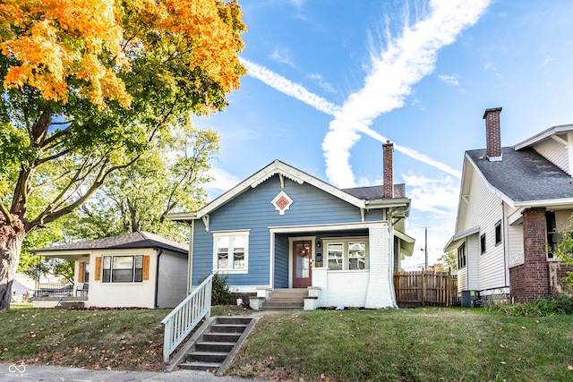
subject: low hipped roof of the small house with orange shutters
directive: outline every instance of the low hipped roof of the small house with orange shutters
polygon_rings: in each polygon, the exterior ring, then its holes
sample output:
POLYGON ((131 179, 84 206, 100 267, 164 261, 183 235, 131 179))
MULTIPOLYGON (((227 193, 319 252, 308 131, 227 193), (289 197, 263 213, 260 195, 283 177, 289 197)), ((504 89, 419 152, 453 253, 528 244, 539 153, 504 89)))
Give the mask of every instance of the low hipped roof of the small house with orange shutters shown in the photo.
POLYGON ((160 248, 163 250, 175 250, 176 252, 187 253, 187 245, 174 242, 155 233, 138 231, 125 233, 119 236, 111 236, 103 239, 90 240, 87 242, 73 242, 70 244, 54 245, 32 252, 44 252, 51 250, 115 250, 134 248, 160 248))

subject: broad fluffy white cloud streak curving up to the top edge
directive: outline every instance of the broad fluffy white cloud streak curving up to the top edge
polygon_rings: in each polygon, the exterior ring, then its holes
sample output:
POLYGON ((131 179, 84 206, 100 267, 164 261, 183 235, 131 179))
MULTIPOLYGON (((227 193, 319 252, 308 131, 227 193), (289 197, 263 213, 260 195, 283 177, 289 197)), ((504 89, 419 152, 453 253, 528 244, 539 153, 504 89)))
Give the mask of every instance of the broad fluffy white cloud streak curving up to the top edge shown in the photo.
POLYGON ((363 89, 350 95, 335 114, 322 143, 330 182, 355 185, 347 161, 350 149, 360 139, 353 132, 368 132, 374 118, 403 106, 411 86, 433 71, 438 49, 453 43, 461 30, 475 24, 488 4, 489 0, 432 1, 429 17, 412 28, 406 26, 400 38, 387 42, 385 50, 371 53, 372 64, 363 89))

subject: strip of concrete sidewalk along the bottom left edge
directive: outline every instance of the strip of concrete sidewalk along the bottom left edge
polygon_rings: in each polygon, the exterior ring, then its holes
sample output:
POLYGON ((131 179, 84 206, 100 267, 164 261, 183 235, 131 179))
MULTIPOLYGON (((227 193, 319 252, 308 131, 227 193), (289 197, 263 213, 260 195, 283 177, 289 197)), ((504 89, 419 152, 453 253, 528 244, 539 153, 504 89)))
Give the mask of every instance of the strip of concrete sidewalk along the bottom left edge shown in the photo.
POLYGON ((252 379, 217 377, 205 371, 116 371, 0 363, 0 381, 6 382, 252 382, 252 379))

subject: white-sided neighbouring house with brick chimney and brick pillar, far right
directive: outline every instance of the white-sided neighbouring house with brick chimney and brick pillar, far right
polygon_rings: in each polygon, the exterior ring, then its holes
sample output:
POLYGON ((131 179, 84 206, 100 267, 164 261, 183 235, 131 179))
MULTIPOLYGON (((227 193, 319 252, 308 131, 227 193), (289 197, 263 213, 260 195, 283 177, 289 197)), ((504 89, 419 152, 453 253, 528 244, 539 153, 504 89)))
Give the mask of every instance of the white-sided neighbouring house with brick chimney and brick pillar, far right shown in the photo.
POLYGON ((532 300, 560 293, 566 268, 553 258, 573 212, 573 124, 501 147, 501 108, 483 115, 486 149, 466 151, 455 234, 458 291, 532 300))

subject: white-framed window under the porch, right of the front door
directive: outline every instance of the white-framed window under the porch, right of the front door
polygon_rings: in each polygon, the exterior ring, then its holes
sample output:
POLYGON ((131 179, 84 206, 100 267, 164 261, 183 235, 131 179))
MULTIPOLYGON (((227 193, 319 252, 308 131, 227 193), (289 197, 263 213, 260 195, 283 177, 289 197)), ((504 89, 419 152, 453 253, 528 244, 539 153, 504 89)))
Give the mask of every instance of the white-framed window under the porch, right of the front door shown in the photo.
POLYGON ((329 270, 368 269, 368 240, 365 238, 322 240, 329 270))

